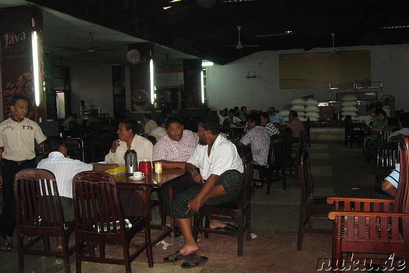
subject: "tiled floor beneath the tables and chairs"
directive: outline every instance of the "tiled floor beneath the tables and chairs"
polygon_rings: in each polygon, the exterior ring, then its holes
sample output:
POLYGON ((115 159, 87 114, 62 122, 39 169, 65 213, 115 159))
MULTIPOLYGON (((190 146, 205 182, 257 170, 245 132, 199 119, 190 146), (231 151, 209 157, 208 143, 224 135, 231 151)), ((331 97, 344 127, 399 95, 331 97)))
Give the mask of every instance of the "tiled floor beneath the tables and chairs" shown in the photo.
MULTIPOLYGON (((361 148, 344 148, 342 141, 316 141, 308 148, 315 195, 370 196, 375 176, 373 166, 365 163, 361 148)), ((317 272, 320 258, 331 258, 330 234, 305 234, 303 251, 296 251, 299 217, 300 188, 294 185, 294 176, 287 179, 287 190, 281 181, 273 185, 271 195, 266 189, 256 190, 252 196, 252 233, 257 237, 244 242, 244 256, 237 257, 235 237, 210 235, 199 236, 200 255, 209 257, 202 267, 189 272, 317 272)), ((153 212, 156 215, 157 211, 153 212)), ((155 221, 158 219, 156 218, 155 221)), ((331 221, 321 221, 330 227, 331 221)), ((74 235, 72 236, 74 238, 74 235)), ((14 240, 15 242, 16 240, 14 240)), ((154 268, 148 268, 145 254, 132 263, 133 272, 186 272, 179 263, 163 263, 162 259, 173 254, 183 243, 165 240, 153 247, 154 268)), ((120 252, 109 247, 108 252, 120 252)), ((71 257, 71 270, 75 272, 75 257, 71 257)), ((26 256, 26 272, 64 272, 61 260, 53 257, 26 256)), ((124 272, 120 265, 83 263, 83 272, 124 272)), ((0 253, 0 272, 17 272, 17 252, 0 253)), ((348 271, 345 271, 348 272, 348 271)), ((351 271, 352 272, 352 271, 351 271)))

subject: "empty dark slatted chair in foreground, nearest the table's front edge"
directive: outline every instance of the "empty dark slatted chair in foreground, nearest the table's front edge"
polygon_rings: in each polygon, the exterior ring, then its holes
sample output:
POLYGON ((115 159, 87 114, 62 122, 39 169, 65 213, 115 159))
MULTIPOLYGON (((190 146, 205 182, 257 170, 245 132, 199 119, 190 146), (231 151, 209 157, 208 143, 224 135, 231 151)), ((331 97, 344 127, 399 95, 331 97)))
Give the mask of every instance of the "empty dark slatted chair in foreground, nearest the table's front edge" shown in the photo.
POLYGON ((81 273, 81 262, 100 262, 125 265, 125 271, 131 272, 131 262, 144 249, 149 267, 153 267, 150 223, 147 215, 131 217, 131 227, 126 227, 121 200, 115 179, 109 173, 86 171, 73 178, 73 196, 75 209, 75 257, 76 272, 81 273), (145 241, 132 254, 129 242, 138 233, 143 232, 145 241), (87 242, 84 249, 81 244, 87 242), (124 259, 106 258, 105 243, 117 243, 122 246, 124 259), (99 257, 93 257, 94 248, 99 245, 99 257), (85 256, 90 253, 90 256, 85 256))

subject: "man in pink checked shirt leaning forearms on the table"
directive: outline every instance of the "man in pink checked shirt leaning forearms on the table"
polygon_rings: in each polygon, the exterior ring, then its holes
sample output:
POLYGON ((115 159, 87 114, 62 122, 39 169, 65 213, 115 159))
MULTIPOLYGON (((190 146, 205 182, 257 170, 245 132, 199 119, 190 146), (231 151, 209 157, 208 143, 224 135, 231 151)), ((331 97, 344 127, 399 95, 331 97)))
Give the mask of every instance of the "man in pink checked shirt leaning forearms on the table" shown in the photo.
MULTIPOLYGON (((185 169, 188 158, 197 146, 199 137, 190 130, 184 130, 178 118, 169 118, 165 124, 166 134, 153 148, 153 162, 162 162, 163 169, 185 169)), ((183 176, 172 182, 173 193, 184 191, 194 185, 192 177, 183 176)), ((158 189, 161 200, 161 213, 169 215, 169 188, 158 189)))

